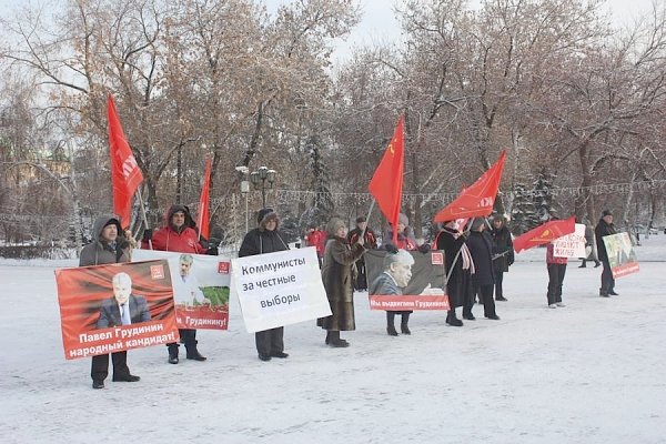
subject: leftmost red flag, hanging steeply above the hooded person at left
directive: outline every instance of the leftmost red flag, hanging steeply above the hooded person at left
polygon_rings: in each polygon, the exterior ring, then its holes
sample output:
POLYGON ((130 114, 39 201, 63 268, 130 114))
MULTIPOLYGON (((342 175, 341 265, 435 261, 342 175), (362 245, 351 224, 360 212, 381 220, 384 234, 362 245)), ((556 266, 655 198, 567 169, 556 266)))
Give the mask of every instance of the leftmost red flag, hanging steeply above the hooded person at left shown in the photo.
POLYGON ((111 148, 111 185, 113 188, 113 212, 120 216, 123 229, 130 226, 132 196, 143 181, 141 169, 124 137, 115 103, 109 94, 107 99, 109 119, 109 147, 111 148))

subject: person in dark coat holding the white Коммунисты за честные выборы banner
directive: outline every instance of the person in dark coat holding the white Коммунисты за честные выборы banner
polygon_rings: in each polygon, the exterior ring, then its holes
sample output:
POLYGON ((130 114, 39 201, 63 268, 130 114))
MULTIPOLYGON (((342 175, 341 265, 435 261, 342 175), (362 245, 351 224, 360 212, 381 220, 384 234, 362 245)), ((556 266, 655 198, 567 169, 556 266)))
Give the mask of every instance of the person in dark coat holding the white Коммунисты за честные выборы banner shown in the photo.
MULTIPOLYGON (((258 228, 250 230, 239 250, 239 258, 274 253, 289 250, 286 242, 280 235, 280 218, 273 209, 264 208, 256 214, 258 228)), ((284 327, 264 330, 254 333, 254 342, 259 359, 271 361, 272 357, 287 357, 284 353, 284 327)))

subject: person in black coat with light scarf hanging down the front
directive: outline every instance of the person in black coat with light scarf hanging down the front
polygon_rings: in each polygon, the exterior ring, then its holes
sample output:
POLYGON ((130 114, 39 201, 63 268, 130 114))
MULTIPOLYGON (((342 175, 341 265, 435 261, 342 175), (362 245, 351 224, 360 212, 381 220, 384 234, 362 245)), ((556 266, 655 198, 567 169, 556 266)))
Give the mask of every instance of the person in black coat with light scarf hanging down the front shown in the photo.
POLYGON ((474 295, 472 294, 474 262, 467 245, 465 245, 465 239, 463 233, 457 230, 456 222, 447 221, 444 222, 444 226, 442 226, 435 240, 435 249, 444 251, 444 266, 448 276, 446 294, 451 306, 446 314, 446 323, 453 326, 463 325, 463 321, 457 319, 455 313, 455 309, 458 306, 463 307, 464 319, 474 320, 472 314, 472 306, 474 306, 474 295))

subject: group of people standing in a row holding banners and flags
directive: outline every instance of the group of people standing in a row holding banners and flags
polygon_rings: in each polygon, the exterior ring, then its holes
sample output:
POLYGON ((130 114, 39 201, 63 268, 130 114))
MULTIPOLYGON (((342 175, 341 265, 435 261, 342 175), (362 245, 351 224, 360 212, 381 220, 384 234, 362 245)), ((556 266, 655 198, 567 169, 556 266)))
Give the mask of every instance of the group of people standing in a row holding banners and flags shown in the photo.
MULTIPOLYGON (((249 231, 239 250, 239 258, 268 254, 289 250, 287 242, 279 231, 280 218, 270 208, 258 212, 258 226, 249 231)), ((373 294, 384 293, 382 285, 405 286, 411 276, 411 263, 402 264, 405 268, 403 278, 398 273, 381 276, 375 282, 367 282, 363 255, 370 249, 377 248, 375 233, 366 226, 364 216, 356 219, 356 226, 347 232, 346 223, 337 218, 331 219, 323 232, 312 228, 306 242, 321 250, 321 273, 326 296, 332 314, 317 320, 316 324, 326 331, 324 343, 332 347, 347 347, 350 343, 341 337, 341 332, 355 330, 354 317, 354 290, 369 289, 373 294), (398 282, 398 280, 401 282, 398 282)), ((604 211, 599 224, 596 226, 595 235, 598 245, 598 258, 603 262, 602 287, 599 295, 608 297, 615 293, 613 274, 608 264, 608 258, 602 238, 614 234, 613 214, 604 211)), ((98 218, 93 225, 93 241, 85 245, 81 252, 80 266, 100 265, 110 263, 128 262, 131 259, 131 248, 135 242, 130 233, 124 233, 121 223, 113 215, 98 218)), ((418 242, 408 226, 408 219, 400 214, 395 228, 390 226, 384 233, 384 248, 389 251, 387 259, 391 266, 401 265, 398 256, 405 255, 405 251, 420 250, 426 253, 431 245, 418 242), (394 236, 393 230, 396 231, 394 236)), ((471 221, 468 230, 458 226, 457 221, 446 221, 442 224, 433 245, 436 250, 445 253, 446 290, 450 300, 450 311, 446 314, 446 323, 453 326, 462 326, 463 321, 457 317, 456 309, 463 307, 464 320, 474 321, 472 312, 476 297, 483 304, 484 316, 488 320, 500 320, 496 312, 495 301, 506 301, 502 283, 503 275, 514 262, 514 250, 512 236, 506 228, 506 220, 497 215, 492 224, 485 218, 471 221)), ((216 250, 209 249, 205 239, 202 239, 196 230, 190 211, 184 205, 172 205, 164 218, 164 225, 155 231, 145 230, 142 239, 142 248, 161 251, 172 251, 191 254, 216 254, 216 250)), ((408 254, 406 254, 408 255, 408 254)), ((410 256, 410 259, 412 259, 410 256)), ((554 258, 552 245, 546 252, 548 266, 547 300, 549 306, 564 306, 562 303, 562 282, 566 271, 566 259, 554 258)), ((413 263, 413 259, 412 259, 413 263)), ((390 336, 397 336, 395 329, 395 316, 400 315, 400 332, 411 334, 408 326, 411 311, 387 311, 386 332, 390 336)), ((185 346, 188 360, 203 362, 203 356, 198 350, 196 330, 179 329, 181 343, 185 346)), ((270 329, 255 333, 255 346, 261 361, 268 362, 273 357, 286 359, 284 352, 284 327, 270 329)), ((168 362, 178 364, 180 362, 178 343, 168 344, 168 362)), ((113 381, 135 382, 140 377, 130 373, 127 365, 127 352, 112 353, 113 381)), ((109 355, 93 356, 92 359, 92 386, 103 389, 104 380, 109 372, 109 355)))

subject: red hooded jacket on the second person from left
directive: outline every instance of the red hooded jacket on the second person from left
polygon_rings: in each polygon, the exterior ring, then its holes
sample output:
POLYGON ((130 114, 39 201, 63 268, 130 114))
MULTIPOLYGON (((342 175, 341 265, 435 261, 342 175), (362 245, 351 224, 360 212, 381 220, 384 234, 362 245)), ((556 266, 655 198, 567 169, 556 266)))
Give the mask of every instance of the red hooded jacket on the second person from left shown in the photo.
MULTIPOLYGON (((199 233, 192 226, 194 221, 190 211, 184 205, 171 205, 164 215, 164 226, 152 236, 153 250, 205 254, 205 249, 199 242, 199 233), (171 218, 179 211, 185 213, 185 223, 180 229, 171 223, 171 218)), ((143 241, 142 248, 149 248, 148 242, 143 241)))

